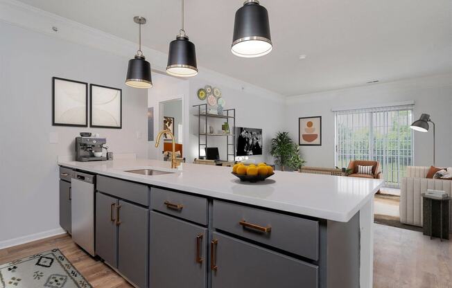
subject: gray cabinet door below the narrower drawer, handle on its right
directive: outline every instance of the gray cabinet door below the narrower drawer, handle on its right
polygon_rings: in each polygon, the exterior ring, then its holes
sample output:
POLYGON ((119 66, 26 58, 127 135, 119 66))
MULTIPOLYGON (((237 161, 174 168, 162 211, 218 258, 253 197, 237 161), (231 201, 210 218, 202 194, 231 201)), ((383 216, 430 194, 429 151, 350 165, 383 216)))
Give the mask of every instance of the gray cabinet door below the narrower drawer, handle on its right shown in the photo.
POLYGON ((152 211, 149 258, 149 287, 204 288, 207 229, 152 211))

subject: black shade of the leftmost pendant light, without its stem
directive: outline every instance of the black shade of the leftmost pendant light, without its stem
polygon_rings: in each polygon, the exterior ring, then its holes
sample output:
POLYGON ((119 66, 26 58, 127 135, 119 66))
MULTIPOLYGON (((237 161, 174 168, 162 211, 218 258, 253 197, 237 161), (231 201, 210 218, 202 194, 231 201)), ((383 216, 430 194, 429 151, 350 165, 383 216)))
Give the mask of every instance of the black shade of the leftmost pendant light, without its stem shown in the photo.
POLYGON ((150 64, 143 55, 135 55, 134 59, 129 60, 125 84, 134 88, 153 87, 150 64))

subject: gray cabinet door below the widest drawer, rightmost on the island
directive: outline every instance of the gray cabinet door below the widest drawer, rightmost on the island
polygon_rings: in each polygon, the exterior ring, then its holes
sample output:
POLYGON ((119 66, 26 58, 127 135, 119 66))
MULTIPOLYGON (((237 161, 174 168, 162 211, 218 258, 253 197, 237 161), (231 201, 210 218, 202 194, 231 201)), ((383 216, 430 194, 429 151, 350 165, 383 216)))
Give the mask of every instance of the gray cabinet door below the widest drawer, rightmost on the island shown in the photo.
POLYGON ((212 288, 318 287, 313 264, 220 233, 212 238, 212 288))

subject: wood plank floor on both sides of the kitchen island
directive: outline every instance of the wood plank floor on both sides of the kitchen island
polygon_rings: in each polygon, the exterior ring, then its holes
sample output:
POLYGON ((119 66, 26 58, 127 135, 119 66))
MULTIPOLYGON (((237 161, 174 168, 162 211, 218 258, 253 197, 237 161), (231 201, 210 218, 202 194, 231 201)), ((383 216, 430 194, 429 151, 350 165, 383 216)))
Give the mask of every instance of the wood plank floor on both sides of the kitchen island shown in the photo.
MULTIPOLYGON (((68 235, 0 250, 0 264, 58 248, 93 287, 132 287, 68 235)), ((191 287, 190 287, 191 288, 191 287)), ((452 241, 375 224, 374 288, 452 288, 452 241)))

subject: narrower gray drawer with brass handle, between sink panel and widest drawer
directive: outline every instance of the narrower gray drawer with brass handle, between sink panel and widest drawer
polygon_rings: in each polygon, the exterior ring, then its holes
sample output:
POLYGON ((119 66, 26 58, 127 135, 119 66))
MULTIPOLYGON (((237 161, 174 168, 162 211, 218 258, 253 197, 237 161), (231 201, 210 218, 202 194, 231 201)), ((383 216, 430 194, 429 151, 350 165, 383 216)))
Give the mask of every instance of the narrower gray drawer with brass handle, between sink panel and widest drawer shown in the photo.
POLYGON ((153 188, 150 206, 157 211, 207 225, 207 199, 153 188))

